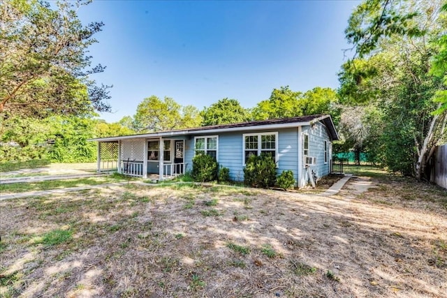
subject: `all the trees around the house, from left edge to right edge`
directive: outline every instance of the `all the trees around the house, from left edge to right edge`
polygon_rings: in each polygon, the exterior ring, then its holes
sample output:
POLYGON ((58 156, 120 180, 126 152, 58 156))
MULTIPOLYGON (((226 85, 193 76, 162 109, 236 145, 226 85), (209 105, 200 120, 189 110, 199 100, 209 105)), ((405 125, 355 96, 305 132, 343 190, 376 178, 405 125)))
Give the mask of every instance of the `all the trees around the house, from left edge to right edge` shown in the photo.
POLYGON ((104 67, 91 66, 86 50, 103 24, 82 26, 76 11, 84 4, 0 4, 2 161, 94 161, 90 137, 331 114, 342 137, 335 151, 428 179, 434 148, 447 141, 446 1, 360 3, 345 31, 352 57, 337 90, 279 87, 251 108, 222 98, 202 110, 152 95, 114 124, 96 119, 95 110, 110 110, 108 86, 90 79, 104 67))

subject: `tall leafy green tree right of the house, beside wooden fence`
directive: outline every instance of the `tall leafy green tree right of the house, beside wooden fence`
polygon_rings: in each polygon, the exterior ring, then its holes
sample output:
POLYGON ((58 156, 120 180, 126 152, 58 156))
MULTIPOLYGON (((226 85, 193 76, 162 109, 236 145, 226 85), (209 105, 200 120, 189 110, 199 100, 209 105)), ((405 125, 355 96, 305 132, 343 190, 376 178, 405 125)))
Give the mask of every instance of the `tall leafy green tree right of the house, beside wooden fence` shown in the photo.
POLYGON ((427 162, 446 139, 446 112, 432 114, 440 106, 432 98, 444 87, 430 74, 437 40, 447 29, 440 7, 441 1, 364 1, 346 29, 358 58, 339 74, 342 102, 367 105, 376 114, 362 121, 374 119, 381 132, 369 144, 383 148, 373 150, 383 165, 418 179, 429 178, 427 162))

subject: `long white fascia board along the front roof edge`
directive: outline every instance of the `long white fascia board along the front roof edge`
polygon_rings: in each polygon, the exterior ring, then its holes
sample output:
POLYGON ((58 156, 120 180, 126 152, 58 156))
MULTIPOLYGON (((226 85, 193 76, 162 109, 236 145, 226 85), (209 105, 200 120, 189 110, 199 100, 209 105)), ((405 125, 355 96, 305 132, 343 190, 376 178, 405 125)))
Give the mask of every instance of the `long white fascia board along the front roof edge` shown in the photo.
POLYGON ((112 142, 117 140, 127 140, 127 139, 140 139, 140 138, 151 138, 151 137, 168 137, 175 135, 214 135, 216 133, 228 133, 233 131, 267 131, 270 129, 279 128, 290 128, 297 126, 310 125, 310 122, 291 122, 283 124, 267 124, 267 125, 257 125, 257 126, 238 126, 238 127, 228 127, 228 128, 212 128, 212 129, 200 129, 194 131, 164 131, 161 133, 146 133, 144 135, 123 135, 121 137, 99 137, 95 139, 89 139, 87 141, 97 141, 97 142, 112 142))

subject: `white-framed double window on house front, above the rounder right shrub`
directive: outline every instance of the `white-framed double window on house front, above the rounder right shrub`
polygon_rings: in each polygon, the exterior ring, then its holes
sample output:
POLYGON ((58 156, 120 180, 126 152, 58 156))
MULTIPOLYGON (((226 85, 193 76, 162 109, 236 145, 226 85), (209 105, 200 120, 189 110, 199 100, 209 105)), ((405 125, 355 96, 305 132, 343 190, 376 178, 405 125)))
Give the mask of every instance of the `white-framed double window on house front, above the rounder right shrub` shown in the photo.
POLYGON ((277 162, 278 133, 246 133, 244 141, 244 165, 252 155, 270 154, 277 162))

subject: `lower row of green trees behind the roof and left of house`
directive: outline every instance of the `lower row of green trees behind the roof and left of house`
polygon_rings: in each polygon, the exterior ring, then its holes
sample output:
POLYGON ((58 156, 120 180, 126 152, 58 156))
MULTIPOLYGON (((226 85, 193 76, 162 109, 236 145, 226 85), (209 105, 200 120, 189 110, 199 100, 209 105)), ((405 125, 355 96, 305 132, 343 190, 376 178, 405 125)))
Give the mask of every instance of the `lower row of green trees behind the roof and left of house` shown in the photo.
MULTIPOLYGON (((89 138, 168 131, 179 128, 228 124, 242 121, 293 117, 309 114, 337 115, 337 94, 317 87, 302 94, 288 87, 274 89, 268 100, 246 109, 238 100, 223 98, 198 110, 182 106, 173 98, 145 98, 133 116, 109 124, 94 112, 80 115, 53 114, 45 118, 10 116, 1 123, 2 161, 49 158, 57 162, 96 160, 96 144, 89 138), (281 105, 281 100, 288 105, 281 105)), ((335 116, 337 119, 337 116, 335 116)))

